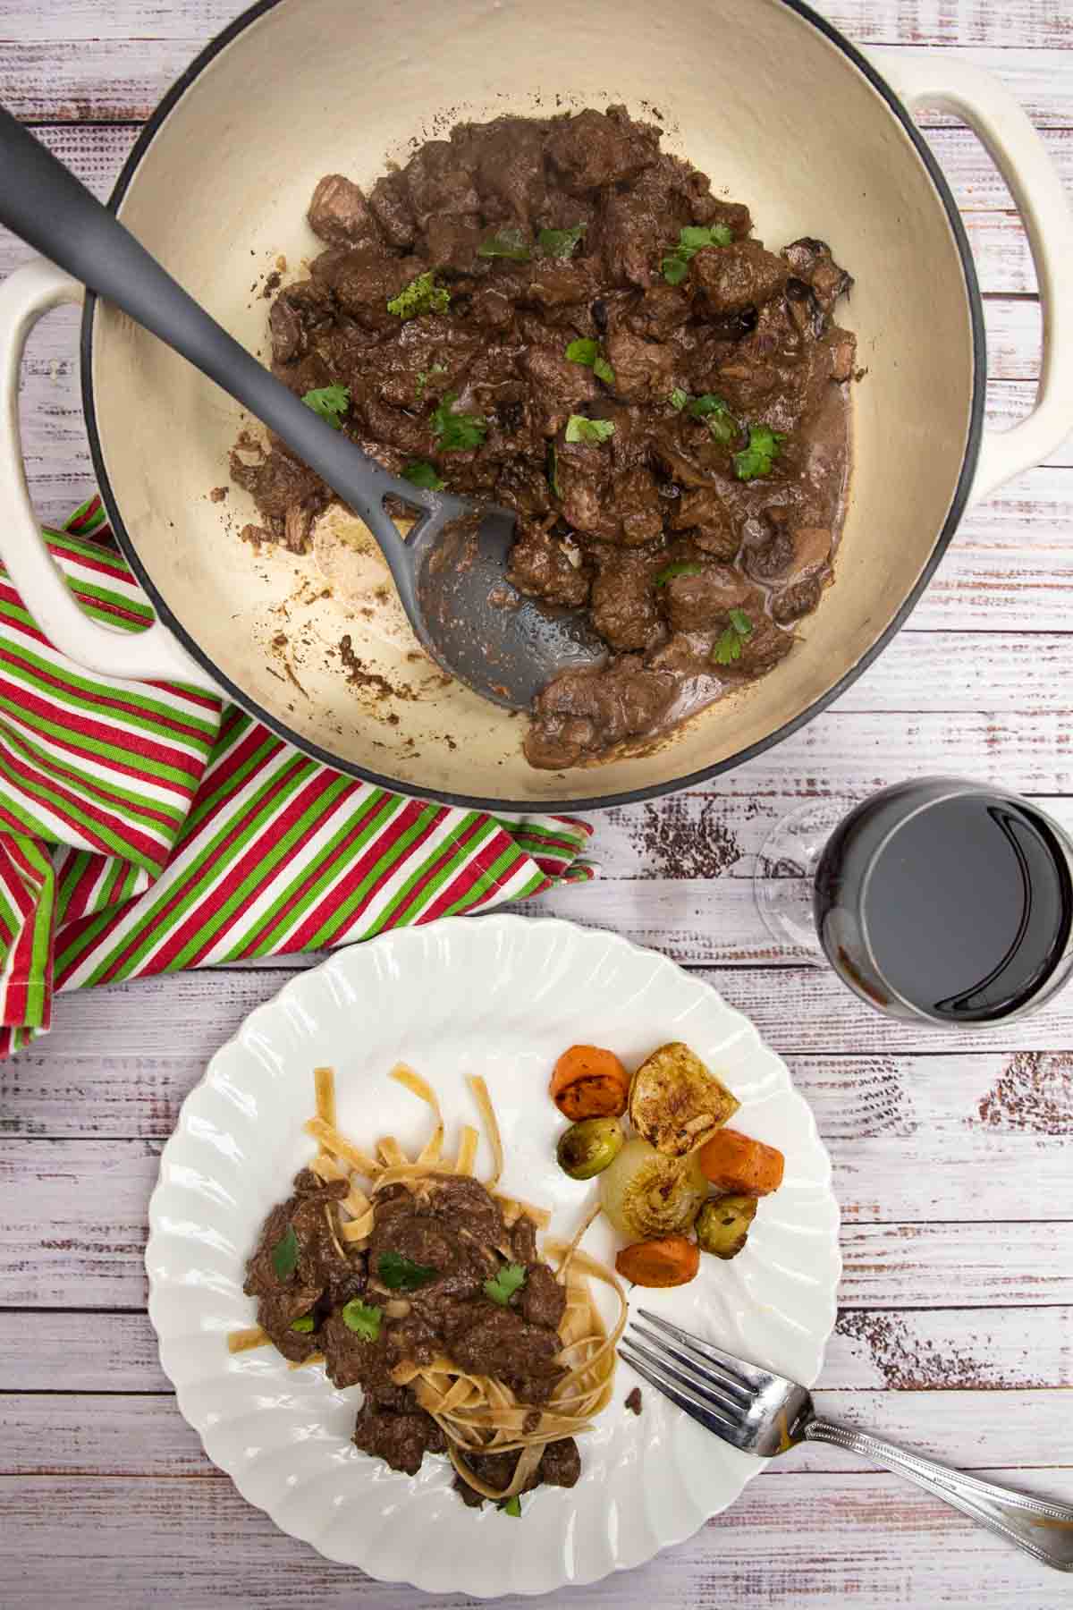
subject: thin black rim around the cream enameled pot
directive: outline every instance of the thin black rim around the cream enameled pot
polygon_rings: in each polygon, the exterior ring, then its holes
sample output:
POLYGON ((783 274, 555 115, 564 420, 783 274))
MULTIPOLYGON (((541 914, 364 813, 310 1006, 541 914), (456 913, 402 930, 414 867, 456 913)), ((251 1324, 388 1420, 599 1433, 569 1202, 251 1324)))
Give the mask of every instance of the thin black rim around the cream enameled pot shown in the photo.
MULTIPOLYGON (((253 23, 265 16, 269 11, 275 10, 277 5, 285 3, 285 0, 254 0, 246 11, 236 16, 227 24, 208 45, 193 58, 190 66, 171 89, 166 92, 164 98, 154 108, 148 121, 143 124, 135 145, 122 164, 119 179, 108 198, 108 208, 111 213, 117 213, 130 182, 138 171, 142 158, 153 143, 158 129, 162 126, 164 119, 169 116, 172 108, 182 100, 188 87, 196 77, 209 66, 209 63, 243 34, 253 23)), ((737 750, 734 755, 724 760, 716 760, 709 766, 701 766, 698 771, 692 771, 684 778, 672 778, 666 782, 655 782, 647 787, 626 789, 619 794, 595 795, 590 799, 521 799, 521 800, 504 800, 504 799, 483 799, 479 795, 470 794, 450 794, 444 789, 420 787, 413 782, 405 782, 399 778, 386 778, 367 766, 359 766, 356 762, 344 760, 341 755, 333 755, 330 750, 323 749, 320 744, 310 742, 310 739, 302 737, 280 720, 280 716, 272 715, 269 710, 262 708, 254 699, 245 694, 230 676, 225 676, 216 665, 212 657, 204 652, 196 638, 175 618, 169 609, 166 599, 161 596, 159 589, 148 575, 145 565, 138 559, 138 551, 135 543, 124 525, 122 515, 116 504, 111 483, 108 480, 108 472, 105 469, 105 454, 101 448, 101 438, 97 422, 97 406, 93 401, 93 316, 97 311, 97 293, 87 290, 85 308, 82 312, 82 335, 80 335, 80 370, 82 370, 82 412, 85 415, 85 428, 90 443, 90 456, 93 459, 93 470, 97 475, 97 486, 108 510, 108 520, 111 530, 119 543, 119 547, 134 570, 142 588, 145 588, 156 615, 167 625, 167 628, 180 641, 187 654, 196 660, 212 678, 212 681, 222 689, 222 692, 236 704, 241 710, 246 710, 254 720, 267 726, 277 737, 294 745, 302 753, 322 765, 330 766, 333 771, 341 771, 346 776, 359 778, 362 782, 372 782, 376 787, 386 789, 391 794, 404 794, 410 799, 431 799, 442 805, 458 805, 467 810, 484 810, 484 811, 523 811, 523 813, 558 813, 558 811, 586 811, 586 810, 606 810, 611 805, 634 805, 640 800, 658 799, 663 794, 677 794, 680 789, 697 787, 701 782, 708 782, 711 778, 721 776, 724 771, 732 771, 735 766, 743 765, 746 760, 753 760, 756 755, 763 755, 767 749, 780 744, 798 728, 806 726, 814 716, 825 710, 835 702, 870 665, 888 642, 901 631, 911 612, 915 609, 920 596, 923 594, 928 581, 931 580, 939 560, 943 559, 954 531, 960 522, 965 506, 968 502, 968 493, 972 489, 973 475, 976 470, 976 459, 980 456, 980 443, 983 438, 983 415, 985 415, 985 394, 986 394, 986 378, 988 378, 988 354, 986 354, 986 335, 983 322, 983 299, 980 296, 980 285, 976 282, 976 266, 973 262, 972 250, 968 246, 968 237, 965 233, 965 225, 962 224, 960 213, 957 211, 957 203, 946 182, 943 169, 936 161, 930 145, 917 129, 912 116, 902 100, 894 93, 890 84, 877 71, 877 68, 867 60, 867 56, 853 45, 845 34, 841 34, 827 18, 822 18, 806 0, 779 0, 790 11, 795 11, 806 23, 809 23, 817 32, 820 32, 832 45, 835 45, 849 61, 857 68, 859 72, 872 84, 872 87, 883 98, 890 111, 898 118, 904 132, 909 135, 917 156, 923 163, 928 177, 935 187, 936 196, 946 213, 949 221, 954 243, 957 246, 957 254, 962 264, 962 274, 965 277, 965 296, 968 301, 968 317, 972 328, 972 346, 973 346, 973 377, 972 377, 972 406, 968 415, 968 433, 965 440, 965 452, 962 457, 960 472, 957 477, 957 486, 954 489, 954 497, 951 507, 943 522, 943 528, 935 539, 935 546, 928 555, 928 560, 920 572, 914 588, 906 596, 904 602, 898 609, 896 615, 890 625, 880 633, 875 642, 865 649, 859 660, 856 660, 833 684, 827 692, 820 694, 812 700, 804 710, 801 710, 793 720, 783 721, 782 726, 775 728, 766 737, 758 739, 754 744, 748 744, 745 749, 737 750)))

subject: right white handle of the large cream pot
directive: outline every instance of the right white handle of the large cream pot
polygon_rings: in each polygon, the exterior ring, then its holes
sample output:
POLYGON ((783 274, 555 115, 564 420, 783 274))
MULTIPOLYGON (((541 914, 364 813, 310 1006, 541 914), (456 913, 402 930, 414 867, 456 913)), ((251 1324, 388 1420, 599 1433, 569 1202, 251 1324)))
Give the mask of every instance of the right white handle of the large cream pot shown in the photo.
POLYGON ((1039 391, 1010 430, 985 431, 972 501, 1042 464, 1073 430, 1073 211, 1028 114, 999 79, 944 52, 869 50, 911 111, 938 106, 973 130, 1010 187, 1022 216, 1042 303, 1039 391))

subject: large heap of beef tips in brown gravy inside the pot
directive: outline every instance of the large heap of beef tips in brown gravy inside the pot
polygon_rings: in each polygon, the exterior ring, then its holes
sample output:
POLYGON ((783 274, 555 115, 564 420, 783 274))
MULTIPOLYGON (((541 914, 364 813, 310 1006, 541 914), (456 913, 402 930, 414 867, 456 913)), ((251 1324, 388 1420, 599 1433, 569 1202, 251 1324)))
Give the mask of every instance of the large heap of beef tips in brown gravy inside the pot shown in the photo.
MULTIPOLYGON (((325 250, 272 306, 273 372, 394 473, 513 509, 513 583, 608 644, 539 696, 534 766, 790 652, 849 465, 853 282, 824 242, 769 251, 621 106, 460 124, 368 195, 328 174, 309 222, 325 250)), ((232 475, 304 551, 323 483, 278 441, 232 475)))

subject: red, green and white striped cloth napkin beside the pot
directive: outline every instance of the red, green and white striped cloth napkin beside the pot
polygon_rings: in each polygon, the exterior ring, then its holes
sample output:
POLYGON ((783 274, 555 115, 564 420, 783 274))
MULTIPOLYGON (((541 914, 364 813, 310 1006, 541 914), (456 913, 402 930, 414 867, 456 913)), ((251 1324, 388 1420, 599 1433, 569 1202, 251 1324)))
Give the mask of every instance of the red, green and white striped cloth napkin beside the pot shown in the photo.
MULTIPOLYGON (((153 620, 103 546, 98 497, 45 536, 90 615, 153 620)), ((0 567, 0 1056, 48 1030, 56 990, 354 943, 584 881, 590 831, 388 794, 195 687, 87 675, 0 567)))

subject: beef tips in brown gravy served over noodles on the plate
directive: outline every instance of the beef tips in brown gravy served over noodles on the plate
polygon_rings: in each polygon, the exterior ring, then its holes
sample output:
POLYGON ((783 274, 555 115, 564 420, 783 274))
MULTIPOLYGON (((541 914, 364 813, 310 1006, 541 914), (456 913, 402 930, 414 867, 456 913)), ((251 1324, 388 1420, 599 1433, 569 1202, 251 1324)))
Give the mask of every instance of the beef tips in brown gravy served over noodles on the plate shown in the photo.
MULTIPOLYGON (((357 1447, 409 1475, 426 1452, 447 1451, 413 1388, 393 1375, 401 1364, 430 1364, 442 1354, 462 1370, 505 1381, 539 1422, 539 1406, 565 1373, 558 1325, 566 1296, 537 1256, 532 1224, 520 1219, 508 1230, 499 1204, 473 1179, 431 1179, 415 1191, 389 1185, 375 1196, 373 1232, 357 1251, 338 1240, 333 1204, 347 1188, 304 1169, 293 1195, 262 1225, 245 1290, 257 1298, 257 1322, 285 1357, 323 1354, 335 1386, 362 1388, 357 1447), (524 1277, 499 1302, 484 1286, 510 1265, 524 1277), (399 1269, 410 1278, 399 1283, 399 1269), (420 1283, 412 1286, 413 1278, 420 1283)), ((505 1488, 516 1457, 475 1455, 473 1472, 505 1488)), ((563 1438, 547 1446, 529 1486, 573 1486, 579 1470, 578 1446, 563 1438)), ((460 1478, 455 1486, 467 1504, 481 1502, 460 1478)))

